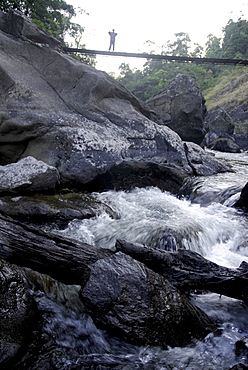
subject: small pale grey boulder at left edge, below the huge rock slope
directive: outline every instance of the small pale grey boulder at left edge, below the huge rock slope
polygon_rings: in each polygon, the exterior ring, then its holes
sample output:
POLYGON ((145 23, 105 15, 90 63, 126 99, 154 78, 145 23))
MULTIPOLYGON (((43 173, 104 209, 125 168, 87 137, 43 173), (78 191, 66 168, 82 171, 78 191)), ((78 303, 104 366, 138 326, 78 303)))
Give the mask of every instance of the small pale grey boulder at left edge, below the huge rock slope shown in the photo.
POLYGON ((58 181, 56 168, 33 157, 0 166, 1 193, 54 191, 58 181))

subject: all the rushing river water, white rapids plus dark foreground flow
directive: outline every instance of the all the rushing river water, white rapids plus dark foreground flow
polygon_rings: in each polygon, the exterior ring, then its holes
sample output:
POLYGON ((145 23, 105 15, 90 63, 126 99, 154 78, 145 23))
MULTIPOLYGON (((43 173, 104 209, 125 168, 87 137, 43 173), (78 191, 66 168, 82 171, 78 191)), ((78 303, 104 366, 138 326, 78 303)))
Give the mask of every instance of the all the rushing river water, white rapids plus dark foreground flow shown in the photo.
MULTIPOLYGON (((247 217, 230 205, 239 196, 237 189, 247 182, 248 155, 216 155, 231 163, 234 172, 198 179, 193 185, 193 200, 178 199, 157 188, 99 193, 96 196, 113 208, 116 219, 101 214, 74 220, 58 232, 102 248, 114 249, 116 239, 170 250, 180 246, 220 265, 238 267, 243 260, 248 262, 247 217), (230 187, 236 188, 228 191, 230 187)), ((242 349, 235 351, 235 343, 248 338, 248 310, 240 301, 216 294, 194 296, 195 304, 218 322, 221 335, 210 334, 186 348, 165 351, 129 345, 99 331, 80 303, 75 303, 77 289, 61 285, 60 299, 58 292, 36 297, 42 310, 48 312, 46 335, 53 333, 65 351, 61 369, 210 370, 229 369, 239 362, 248 366, 247 354, 242 349), (66 309, 61 299, 64 294, 74 297, 67 297, 66 302, 73 304, 66 309)))

